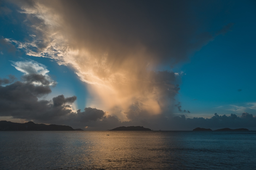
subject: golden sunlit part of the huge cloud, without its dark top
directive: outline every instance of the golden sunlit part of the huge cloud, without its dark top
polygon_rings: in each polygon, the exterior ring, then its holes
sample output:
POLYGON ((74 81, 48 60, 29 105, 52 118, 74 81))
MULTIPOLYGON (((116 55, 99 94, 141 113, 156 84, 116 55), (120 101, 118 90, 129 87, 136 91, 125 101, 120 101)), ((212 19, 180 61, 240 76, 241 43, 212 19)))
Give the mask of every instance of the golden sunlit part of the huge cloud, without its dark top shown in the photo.
POLYGON ((179 90, 174 85, 174 73, 154 72, 159 60, 143 44, 128 48, 118 45, 120 42, 109 42, 112 44, 108 46, 103 39, 86 45, 86 41, 72 37, 74 27, 63 19, 63 13, 54 11, 47 3, 22 5, 21 9, 28 19, 40 19, 31 25, 36 36, 26 43, 6 41, 18 45, 17 48, 26 51, 27 55, 49 57, 60 65, 72 67, 81 81, 90 84, 92 96, 100 99, 97 108, 123 120, 128 120, 129 114, 136 117, 141 112, 154 115, 170 110, 168 106, 172 105, 179 90), (109 50, 112 46, 114 50, 109 50))

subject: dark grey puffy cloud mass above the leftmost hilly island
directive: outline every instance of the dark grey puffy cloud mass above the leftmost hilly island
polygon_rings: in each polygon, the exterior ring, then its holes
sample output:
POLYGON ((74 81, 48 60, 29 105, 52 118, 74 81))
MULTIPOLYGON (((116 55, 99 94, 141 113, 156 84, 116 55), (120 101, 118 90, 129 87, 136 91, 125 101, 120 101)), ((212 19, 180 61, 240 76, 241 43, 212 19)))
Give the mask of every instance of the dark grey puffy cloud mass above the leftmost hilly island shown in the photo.
MULTIPOLYGON (((13 78, 13 76, 10 77, 13 78)), ((15 81, 12 84, 0 86, 0 116, 41 123, 63 123, 64 120, 69 120, 69 124, 75 124, 75 122, 96 121, 105 115, 102 110, 92 108, 85 108, 84 112, 74 114, 68 103, 74 103, 76 96, 65 98, 60 95, 53 97, 52 101, 39 100, 39 97, 48 95, 52 90, 48 85, 34 85, 35 77, 42 84, 49 84, 42 75, 28 74, 25 78, 23 77, 26 82, 15 81)), ((10 81, 4 82, 10 83, 10 81)))

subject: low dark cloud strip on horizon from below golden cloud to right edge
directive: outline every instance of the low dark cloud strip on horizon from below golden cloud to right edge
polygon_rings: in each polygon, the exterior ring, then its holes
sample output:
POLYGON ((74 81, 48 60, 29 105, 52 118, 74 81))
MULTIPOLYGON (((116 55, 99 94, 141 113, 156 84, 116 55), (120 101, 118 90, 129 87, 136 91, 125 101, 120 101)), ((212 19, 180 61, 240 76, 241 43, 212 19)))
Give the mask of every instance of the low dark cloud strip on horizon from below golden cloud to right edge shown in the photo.
POLYGON ((185 115, 174 117, 164 117, 163 115, 148 116, 147 118, 134 119, 132 121, 120 122, 116 117, 103 117, 102 121, 90 122, 87 126, 93 130, 113 129, 119 126, 144 126, 153 130, 193 130, 196 127, 212 128, 212 130, 220 128, 255 128, 256 117, 252 114, 242 113, 239 117, 235 114, 230 116, 214 114, 211 118, 194 117, 186 118, 185 115), (111 119, 111 121, 110 121, 111 119))

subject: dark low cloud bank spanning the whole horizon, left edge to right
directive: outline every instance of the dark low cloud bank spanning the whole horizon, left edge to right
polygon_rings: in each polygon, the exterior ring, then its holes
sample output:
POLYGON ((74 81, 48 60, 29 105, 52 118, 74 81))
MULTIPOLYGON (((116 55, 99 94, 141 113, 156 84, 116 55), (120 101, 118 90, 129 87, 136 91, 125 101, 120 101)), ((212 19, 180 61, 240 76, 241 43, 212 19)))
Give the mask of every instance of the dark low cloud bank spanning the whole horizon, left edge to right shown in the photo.
MULTIPOLYGON (((34 75, 28 74, 28 76, 34 75)), ((39 77, 41 77, 40 80, 45 81, 44 76, 39 77)), ((24 77, 21 79, 24 80, 24 77)), ((33 81, 15 81, 0 86, 0 116, 32 120, 35 123, 65 124, 86 130, 107 130, 119 126, 137 125, 154 130, 192 130, 196 127, 212 129, 256 127, 256 117, 245 112, 240 117, 235 114, 220 116, 215 113, 210 119, 186 118, 185 115, 165 117, 164 114, 148 115, 145 111, 138 110, 136 105, 125 113, 132 121, 121 122, 116 117, 107 115, 106 112, 96 108, 89 107, 84 111, 72 110, 71 104, 76 101, 76 96, 59 95, 50 101, 39 100, 40 97, 51 92, 51 86, 44 85, 44 83, 35 85, 33 81)))

